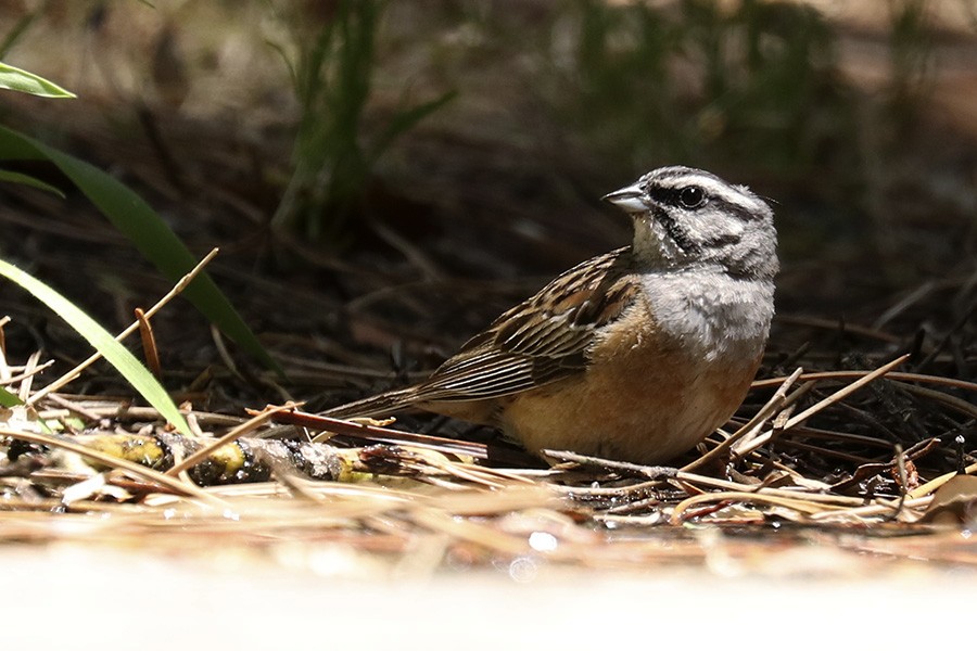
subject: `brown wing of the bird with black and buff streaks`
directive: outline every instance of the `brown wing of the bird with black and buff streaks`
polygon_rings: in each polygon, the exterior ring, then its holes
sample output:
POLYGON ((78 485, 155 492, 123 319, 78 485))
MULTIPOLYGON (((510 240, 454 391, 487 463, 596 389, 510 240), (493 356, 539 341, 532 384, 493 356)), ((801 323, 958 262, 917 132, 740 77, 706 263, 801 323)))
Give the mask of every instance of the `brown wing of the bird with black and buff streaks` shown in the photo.
POLYGON ((633 301, 631 248, 592 258, 498 317, 416 387, 417 403, 497 398, 586 367, 597 329, 633 301))

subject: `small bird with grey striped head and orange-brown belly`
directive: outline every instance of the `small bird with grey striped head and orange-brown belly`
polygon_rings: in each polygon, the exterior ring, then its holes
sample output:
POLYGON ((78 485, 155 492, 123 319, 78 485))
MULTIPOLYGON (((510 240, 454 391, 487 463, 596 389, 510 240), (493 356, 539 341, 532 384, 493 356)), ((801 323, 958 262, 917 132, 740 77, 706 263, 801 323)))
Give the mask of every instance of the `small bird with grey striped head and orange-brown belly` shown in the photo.
POLYGON ((766 345, 778 271, 770 205, 669 166, 605 195, 633 242, 561 273, 503 312, 427 380, 341 405, 491 425, 528 451, 654 464, 739 408, 766 345))

